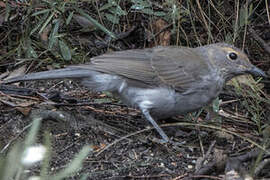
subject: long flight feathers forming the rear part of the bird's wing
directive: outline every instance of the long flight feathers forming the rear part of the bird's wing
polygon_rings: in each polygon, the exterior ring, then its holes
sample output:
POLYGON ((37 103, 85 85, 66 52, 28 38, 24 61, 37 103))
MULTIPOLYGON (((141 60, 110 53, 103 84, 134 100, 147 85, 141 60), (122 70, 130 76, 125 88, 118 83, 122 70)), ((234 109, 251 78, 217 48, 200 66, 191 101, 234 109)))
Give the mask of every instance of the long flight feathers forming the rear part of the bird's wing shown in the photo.
POLYGON ((94 57, 90 63, 75 67, 115 74, 145 84, 157 85, 155 80, 157 76, 150 62, 151 54, 151 49, 115 51, 94 57))

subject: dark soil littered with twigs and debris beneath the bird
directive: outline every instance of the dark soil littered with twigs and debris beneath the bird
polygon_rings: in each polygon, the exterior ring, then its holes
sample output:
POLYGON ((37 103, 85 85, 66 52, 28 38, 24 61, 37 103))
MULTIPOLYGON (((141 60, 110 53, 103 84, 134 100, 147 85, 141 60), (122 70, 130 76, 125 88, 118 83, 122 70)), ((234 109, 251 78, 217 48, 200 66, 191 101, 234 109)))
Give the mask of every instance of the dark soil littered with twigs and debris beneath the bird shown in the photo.
MULTIPOLYGON (((4 146, 25 138, 28 129, 23 130, 32 121, 29 117, 42 116, 42 113, 63 114, 65 120, 50 115, 43 119, 38 143, 43 142, 45 132, 50 132, 51 174, 64 168, 83 146, 93 149, 83 168, 69 179, 79 179, 83 174, 88 175, 87 179, 222 179, 229 172, 228 167, 237 164, 232 157, 256 148, 243 138, 211 127, 237 132, 255 142, 261 140, 254 133, 253 124, 214 113, 209 118, 207 111, 203 111, 199 118, 188 114, 159 121, 160 125, 168 126, 163 129, 174 142, 162 144, 156 141, 160 138, 158 133, 138 110, 127 108, 110 94, 90 92, 66 80, 27 82, 20 87, 34 89, 35 93, 10 95, 9 100, 27 105, 25 108, 0 104, 1 150, 6 152, 8 148, 4 146), (181 126, 179 122, 192 125, 181 126)), ((228 95, 222 97, 228 100, 228 95)), ((229 112, 230 106, 224 106, 223 111, 229 112)), ((246 176, 250 167, 250 161, 241 162, 236 167, 237 173, 246 176)), ((29 171, 32 175, 38 172, 38 165, 29 171)), ((270 177, 269 171, 262 173, 270 177)))

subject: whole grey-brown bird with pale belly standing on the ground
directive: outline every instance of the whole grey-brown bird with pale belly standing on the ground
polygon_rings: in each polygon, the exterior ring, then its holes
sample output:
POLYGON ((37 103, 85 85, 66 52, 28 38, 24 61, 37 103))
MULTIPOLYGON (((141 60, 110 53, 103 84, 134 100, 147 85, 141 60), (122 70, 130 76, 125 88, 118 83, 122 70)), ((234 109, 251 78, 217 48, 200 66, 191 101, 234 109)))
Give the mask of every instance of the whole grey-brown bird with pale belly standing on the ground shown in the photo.
POLYGON ((50 79, 73 79, 92 91, 110 91, 127 106, 139 109, 161 136, 156 123, 196 111, 218 97, 233 77, 251 74, 266 77, 248 56, 227 43, 195 48, 156 46, 105 53, 90 62, 30 73, 6 80, 6 84, 50 79))

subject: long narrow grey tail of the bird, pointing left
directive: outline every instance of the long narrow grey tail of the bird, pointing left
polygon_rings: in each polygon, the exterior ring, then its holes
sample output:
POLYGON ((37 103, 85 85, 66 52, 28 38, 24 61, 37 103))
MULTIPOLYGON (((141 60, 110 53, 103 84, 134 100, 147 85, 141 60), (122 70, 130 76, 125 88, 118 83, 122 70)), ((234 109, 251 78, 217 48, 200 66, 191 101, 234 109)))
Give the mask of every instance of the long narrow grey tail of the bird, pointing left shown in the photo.
POLYGON ((11 79, 6 80, 5 84, 20 82, 20 81, 32 81, 32 80, 49 80, 49 79, 80 79, 85 77, 91 77, 96 72, 75 68, 75 67, 67 67, 63 69, 43 71, 27 74, 24 76, 17 76, 11 79))

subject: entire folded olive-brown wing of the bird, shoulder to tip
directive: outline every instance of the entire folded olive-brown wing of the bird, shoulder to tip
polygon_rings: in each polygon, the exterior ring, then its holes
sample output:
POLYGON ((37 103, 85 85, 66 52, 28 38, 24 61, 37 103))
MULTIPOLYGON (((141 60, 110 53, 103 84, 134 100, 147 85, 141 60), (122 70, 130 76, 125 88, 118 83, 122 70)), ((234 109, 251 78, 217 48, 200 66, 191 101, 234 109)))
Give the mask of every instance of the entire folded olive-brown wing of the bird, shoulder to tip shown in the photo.
POLYGON ((148 85, 168 85, 184 92, 199 80, 208 66, 193 48, 156 47, 112 52, 94 57, 89 64, 77 65, 115 74, 148 85))

